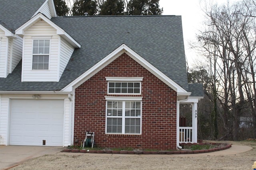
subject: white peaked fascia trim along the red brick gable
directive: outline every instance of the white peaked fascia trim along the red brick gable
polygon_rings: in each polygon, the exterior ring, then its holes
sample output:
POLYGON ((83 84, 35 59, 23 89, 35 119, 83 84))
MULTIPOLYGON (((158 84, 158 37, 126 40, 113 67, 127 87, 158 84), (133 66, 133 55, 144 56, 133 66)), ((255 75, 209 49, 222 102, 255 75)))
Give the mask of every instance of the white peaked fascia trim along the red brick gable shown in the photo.
MULTIPOLYGON (((90 77, 92 77, 94 74, 99 72, 102 68, 107 66, 109 63, 114 61, 117 57, 119 57, 122 53, 126 53, 129 55, 132 59, 134 59, 136 62, 141 64, 144 68, 146 68, 148 71, 150 71, 152 74, 154 74, 157 78, 162 80, 165 84, 167 84, 170 88, 175 90, 178 93, 186 94, 186 96, 189 96, 191 93, 187 92, 179 86, 176 82, 171 80, 168 76, 163 74, 160 70, 158 70, 156 67, 154 67, 152 64, 150 64, 148 61, 143 59, 140 55, 138 55, 136 52, 134 52, 132 49, 130 49, 127 45, 122 44, 117 49, 112 51, 109 55, 107 55, 104 59, 99 61, 97 64, 92 66, 89 70, 84 72, 81 76, 76 78, 73 82, 68 84, 66 87, 64 87, 62 90, 72 90, 72 87, 77 88, 80 86, 83 82, 88 80, 90 77)), ((68 90, 68 91, 69 91, 68 90)))

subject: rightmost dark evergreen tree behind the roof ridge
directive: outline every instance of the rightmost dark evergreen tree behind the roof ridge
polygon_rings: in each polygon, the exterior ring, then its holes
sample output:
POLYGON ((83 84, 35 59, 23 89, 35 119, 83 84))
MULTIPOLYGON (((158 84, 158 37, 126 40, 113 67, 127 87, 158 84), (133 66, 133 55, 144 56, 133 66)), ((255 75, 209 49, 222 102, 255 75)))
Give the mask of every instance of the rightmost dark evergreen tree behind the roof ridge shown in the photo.
POLYGON ((128 2, 128 15, 161 15, 163 8, 159 0, 130 0, 128 2))

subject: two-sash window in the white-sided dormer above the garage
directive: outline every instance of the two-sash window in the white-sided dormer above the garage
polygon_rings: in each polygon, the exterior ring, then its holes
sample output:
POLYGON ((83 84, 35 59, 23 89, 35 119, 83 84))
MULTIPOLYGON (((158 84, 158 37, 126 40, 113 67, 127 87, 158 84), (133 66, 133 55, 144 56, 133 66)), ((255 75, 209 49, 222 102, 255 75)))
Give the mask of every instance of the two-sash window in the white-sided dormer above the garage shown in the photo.
POLYGON ((48 70, 49 55, 50 55, 50 40, 34 39, 32 70, 48 70))

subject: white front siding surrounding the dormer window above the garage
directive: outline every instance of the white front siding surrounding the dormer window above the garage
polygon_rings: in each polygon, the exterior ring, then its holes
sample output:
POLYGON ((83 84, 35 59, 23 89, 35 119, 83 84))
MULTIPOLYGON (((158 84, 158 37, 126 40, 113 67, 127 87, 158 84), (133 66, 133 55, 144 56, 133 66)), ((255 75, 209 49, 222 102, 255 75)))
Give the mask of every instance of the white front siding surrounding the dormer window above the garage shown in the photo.
POLYGON ((58 64, 59 64, 59 39, 60 36, 56 34, 56 29, 50 26, 45 21, 38 21, 32 27, 25 31, 24 51, 22 59, 22 81, 46 81, 57 82, 58 64), (49 70, 32 70, 32 43, 33 38, 39 37, 44 39, 44 36, 50 38, 50 56, 49 56, 49 70))

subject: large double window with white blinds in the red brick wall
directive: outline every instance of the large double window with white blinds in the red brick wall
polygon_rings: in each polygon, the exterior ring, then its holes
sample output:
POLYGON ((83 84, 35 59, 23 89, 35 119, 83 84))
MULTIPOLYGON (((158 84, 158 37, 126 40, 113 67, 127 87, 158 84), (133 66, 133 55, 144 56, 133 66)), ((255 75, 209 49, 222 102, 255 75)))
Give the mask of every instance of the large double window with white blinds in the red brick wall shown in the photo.
POLYGON ((141 134, 142 98, 106 98, 106 133, 141 134))

